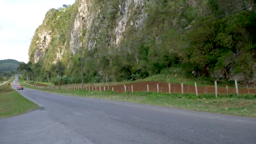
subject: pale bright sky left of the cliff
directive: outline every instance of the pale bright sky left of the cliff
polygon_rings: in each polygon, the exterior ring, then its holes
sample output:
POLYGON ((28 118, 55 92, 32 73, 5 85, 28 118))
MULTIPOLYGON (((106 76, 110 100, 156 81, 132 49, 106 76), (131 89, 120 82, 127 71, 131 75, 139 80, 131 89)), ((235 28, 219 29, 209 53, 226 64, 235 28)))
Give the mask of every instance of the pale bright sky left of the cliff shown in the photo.
POLYGON ((46 12, 75 0, 0 0, 0 60, 28 62, 29 45, 46 12))

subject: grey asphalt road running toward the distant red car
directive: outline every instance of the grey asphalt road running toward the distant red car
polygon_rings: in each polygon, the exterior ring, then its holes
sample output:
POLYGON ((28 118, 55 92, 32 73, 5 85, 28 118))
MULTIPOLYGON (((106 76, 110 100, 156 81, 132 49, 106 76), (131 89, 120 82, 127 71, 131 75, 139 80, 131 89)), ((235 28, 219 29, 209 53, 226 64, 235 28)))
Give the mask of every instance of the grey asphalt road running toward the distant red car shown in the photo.
POLYGON ((0 144, 256 143, 256 118, 19 92, 44 108, 0 119, 0 144))

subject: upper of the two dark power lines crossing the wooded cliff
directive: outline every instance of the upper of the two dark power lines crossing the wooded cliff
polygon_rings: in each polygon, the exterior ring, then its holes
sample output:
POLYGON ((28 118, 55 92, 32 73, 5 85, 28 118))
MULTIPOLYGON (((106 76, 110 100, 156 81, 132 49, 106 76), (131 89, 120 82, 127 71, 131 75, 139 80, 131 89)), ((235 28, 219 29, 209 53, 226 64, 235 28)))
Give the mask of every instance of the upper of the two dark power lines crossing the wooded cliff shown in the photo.
MULTIPOLYGON (((230 6, 233 6, 233 5, 236 5, 236 4, 238 4, 238 3, 241 3, 241 2, 243 2, 243 1, 245 1, 245 0, 242 0, 242 1, 240 1, 240 2, 234 3, 234 4, 232 4, 232 5, 228 5, 228 6, 224 7, 224 8, 221 8, 221 9, 219 9, 219 10, 216 10, 216 11, 213 11, 213 12, 211 12, 211 13, 205 14, 205 15, 203 15, 203 16, 197 17, 196 19, 193 19, 193 20, 191 20, 191 21, 187 21, 187 22, 184 23, 184 24, 187 24, 187 23, 189 23, 189 22, 195 21, 195 20, 197 20, 197 19, 203 18, 203 17, 208 16, 208 15, 211 15, 211 14, 216 13, 216 12, 218 12, 218 11, 221 11, 221 10, 223 10, 223 9, 225 9, 225 8, 228 8, 228 7, 230 7, 230 6)), ((181 25, 182 25, 182 24, 176 25, 175 27, 171 27, 171 28, 165 29, 165 30, 163 30, 163 31, 161 31, 161 32, 157 32, 157 33, 152 34, 152 35, 149 35, 149 36, 153 36, 153 35, 157 35, 157 34, 166 32, 166 31, 168 31, 168 30, 170 30, 170 29, 179 27, 179 26, 181 26, 181 25)), ((132 43, 136 43, 136 42, 139 42, 139 41, 141 41, 141 40, 145 40, 145 39, 148 38, 149 36, 144 37, 144 38, 142 38, 142 39, 140 39, 140 40, 133 41, 132 43)))

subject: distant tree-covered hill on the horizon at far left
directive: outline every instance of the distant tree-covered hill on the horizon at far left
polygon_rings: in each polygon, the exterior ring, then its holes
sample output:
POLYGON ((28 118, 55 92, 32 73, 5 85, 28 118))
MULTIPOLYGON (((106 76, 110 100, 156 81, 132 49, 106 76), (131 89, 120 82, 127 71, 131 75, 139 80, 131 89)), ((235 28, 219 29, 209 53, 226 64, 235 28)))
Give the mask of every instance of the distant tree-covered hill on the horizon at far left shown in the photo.
POLYGON ((14 59, 0 60, 0 74, 3 72, 16 72, 17 67, 19 67, 19 61, 14 59))

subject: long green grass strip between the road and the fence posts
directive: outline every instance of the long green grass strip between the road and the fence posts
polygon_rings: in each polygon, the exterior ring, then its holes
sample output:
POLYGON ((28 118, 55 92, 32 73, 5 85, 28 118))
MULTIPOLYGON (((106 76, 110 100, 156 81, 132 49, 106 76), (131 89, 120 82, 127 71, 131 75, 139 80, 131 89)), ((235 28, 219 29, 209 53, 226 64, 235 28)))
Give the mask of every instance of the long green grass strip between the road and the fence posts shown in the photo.
MULTIPOLYGON (((24 86, 34 88, 32 86, 24 86)), ((199 95, 186 93, 152 93, 152 92, 135 92, 135 93, 115 93, 112 91, 82 91, 82 90, 48 90, 39 89, 72 96, 89 97, 95 99, 107 99, 115 101, 126 101, 138 104, 148 104, 160 107, 173 107, 179 109, 195 110, 202 112, 213 112, 225 115, 237 115, 244 117, 256 117, 256 95, 239 95, 230 94, 219 95, 199 95)))

